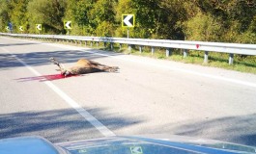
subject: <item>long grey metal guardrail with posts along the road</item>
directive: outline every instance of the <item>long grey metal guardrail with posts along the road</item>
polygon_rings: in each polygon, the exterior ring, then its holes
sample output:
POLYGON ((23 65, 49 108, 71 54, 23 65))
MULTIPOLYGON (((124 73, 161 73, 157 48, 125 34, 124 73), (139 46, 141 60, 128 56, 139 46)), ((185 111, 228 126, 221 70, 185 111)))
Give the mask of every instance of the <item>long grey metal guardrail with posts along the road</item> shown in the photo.
POLYGON ((233 64, 234 54, 241 55, 256 55, 256 44, 240 44, 240 43, 222 43, 222 42, 207 42, 207 41, 187 41, 187 40, 167 40, 167 39, 125 39, 125 38, 100 38, 100 37, 80 37, 80 36, 62 36, 62 35, 29 35, 29 34, 7 34, 0 33, 2 36, 34 38, 34 39, 66 39, 74 41, 96 41, 109 42, 111 49, 113 43, 138 45, 140 52, 142 46, 151 46, 152 54, 155 52, 155 47, 166 48, 166 56, 171 55, 171 48, 179 48, 184 50, 184 57, 187 56, 187 50, 205 51, 204 63, 208 62, 209 52, 229 53, 229 64, 233 64))

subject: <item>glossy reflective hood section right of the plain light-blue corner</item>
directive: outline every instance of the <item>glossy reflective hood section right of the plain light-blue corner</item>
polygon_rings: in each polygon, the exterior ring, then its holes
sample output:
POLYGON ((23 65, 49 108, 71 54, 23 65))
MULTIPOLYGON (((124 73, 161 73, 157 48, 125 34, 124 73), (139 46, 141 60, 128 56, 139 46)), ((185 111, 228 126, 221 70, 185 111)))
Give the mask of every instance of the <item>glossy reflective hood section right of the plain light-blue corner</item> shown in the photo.
POLYGON ((256 153, 256 148, 180 136, 119 136, 58 143, 71 154, 256 153))

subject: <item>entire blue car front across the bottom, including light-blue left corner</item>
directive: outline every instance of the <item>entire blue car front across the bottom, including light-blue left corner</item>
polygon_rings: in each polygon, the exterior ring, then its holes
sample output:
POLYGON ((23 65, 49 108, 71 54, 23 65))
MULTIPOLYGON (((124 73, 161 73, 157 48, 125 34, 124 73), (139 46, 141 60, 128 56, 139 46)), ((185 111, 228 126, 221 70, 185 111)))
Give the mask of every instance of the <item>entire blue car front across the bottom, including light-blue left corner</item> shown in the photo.
POLYGON ((256 153, 256 147, 180 136, 115 136, 51 143, 41 137, 0 140, 0 154, 256 153))

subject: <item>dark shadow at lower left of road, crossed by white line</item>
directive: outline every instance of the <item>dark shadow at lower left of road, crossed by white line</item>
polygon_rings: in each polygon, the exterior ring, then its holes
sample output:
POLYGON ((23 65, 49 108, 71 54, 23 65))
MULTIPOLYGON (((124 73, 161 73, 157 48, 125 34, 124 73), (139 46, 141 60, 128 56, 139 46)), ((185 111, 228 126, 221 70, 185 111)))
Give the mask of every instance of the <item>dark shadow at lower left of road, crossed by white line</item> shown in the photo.
MULTIPOLYGON (((109 115, 107 109, 89 109, 91 115, 103 121, 110 130, 140 123, 143 119, 129 119, 109 115)), ((30 111, 0 115, 0 139, 42 136, 49 141, 77 141, 103 137, 84 117, 73 109, 30 111)))

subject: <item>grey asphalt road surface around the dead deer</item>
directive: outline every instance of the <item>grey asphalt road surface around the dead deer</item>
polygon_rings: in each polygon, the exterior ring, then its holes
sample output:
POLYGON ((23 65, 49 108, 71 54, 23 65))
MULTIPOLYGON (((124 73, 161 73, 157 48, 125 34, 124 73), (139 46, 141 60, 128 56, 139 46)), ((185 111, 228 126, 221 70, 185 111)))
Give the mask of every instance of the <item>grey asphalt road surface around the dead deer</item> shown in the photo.
POLYGON ((168 134, 256 145, 256 75, 0 38, 0 139, 168 134), (79 58, 119 66, 59 78, 79 58))

